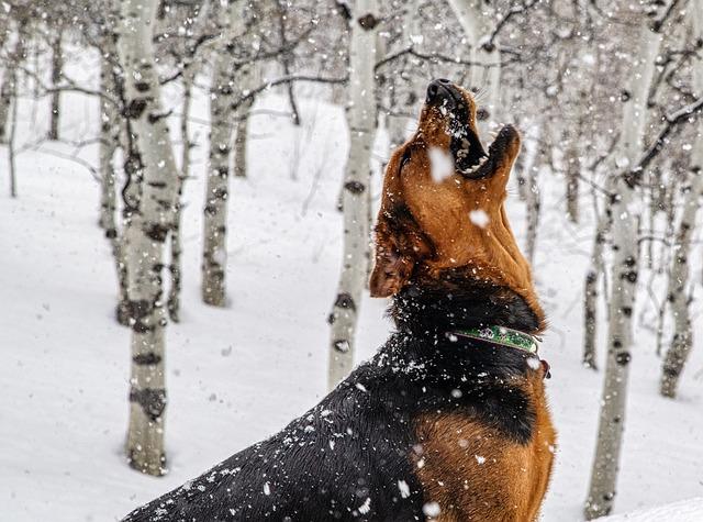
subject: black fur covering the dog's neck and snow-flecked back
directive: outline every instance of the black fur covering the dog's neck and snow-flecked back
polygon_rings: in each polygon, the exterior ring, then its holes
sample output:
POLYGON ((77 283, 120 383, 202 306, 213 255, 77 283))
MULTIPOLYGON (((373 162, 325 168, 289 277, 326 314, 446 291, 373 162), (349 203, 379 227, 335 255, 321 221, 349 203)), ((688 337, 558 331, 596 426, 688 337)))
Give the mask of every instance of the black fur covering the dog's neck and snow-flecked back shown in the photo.
POLYGON ((529 355, 445 330, 489 319, 534 330, 521 298, 486 284, 450 295, 411 287, 392 315, 398 332, 320 404, 125 520, 424 520, 410 456, 419 415, 465 412, 529 441, 535 411, 518 386, 534 371, 529 355))

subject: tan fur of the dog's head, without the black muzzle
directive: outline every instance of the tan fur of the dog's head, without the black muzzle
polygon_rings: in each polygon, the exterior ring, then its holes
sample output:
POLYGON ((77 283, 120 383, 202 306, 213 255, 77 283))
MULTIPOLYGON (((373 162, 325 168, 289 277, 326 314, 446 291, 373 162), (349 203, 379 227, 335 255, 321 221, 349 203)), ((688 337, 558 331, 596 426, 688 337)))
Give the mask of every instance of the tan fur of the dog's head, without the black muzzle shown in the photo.
MULTIPOLYGON (((464 91, 464 97, 475 114, 471 95, 464 91)), ((417 132, 393 153, 387 166, 376 229, 371 295, 388 297, 398 292, 413 269, 436 277, 443 269, 471 266, 477 279, 506 286, 523 297, 539 318, 542 330, 544 312, 533 288, 529 265, 517 247, 504 208, 505 186, 520 151, 520 138, 511 143, 490 177, 473 180, 455 173, 436 182, 428 152, 431 147, 449 151, 450 138, 443 118, 436 108, 425 107, 417 132), (401 170, 408 149, 410 159, 401 170), (406 234, 399 238, 389 232, 387 220, 398 206, 405 206, 412 213, 417 229, 412 231, 414 237, 406 234), (486 212, 489 222, 484 227, 471 221, 473 211, 486 212)), ((475 127, 473 122, 472 115, 470 124, 475 127)))

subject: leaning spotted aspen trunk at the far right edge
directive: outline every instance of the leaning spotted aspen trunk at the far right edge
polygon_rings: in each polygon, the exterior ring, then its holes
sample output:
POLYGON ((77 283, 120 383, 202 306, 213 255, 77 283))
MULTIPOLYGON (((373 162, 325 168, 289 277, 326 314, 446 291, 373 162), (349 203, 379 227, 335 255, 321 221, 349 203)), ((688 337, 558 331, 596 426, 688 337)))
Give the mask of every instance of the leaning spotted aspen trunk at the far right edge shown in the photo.
MULTIPOLYGON (((693 11, 693 34, 703 37, 703 4, 691 1, 689 9, 693 11)), ((693 67, 693 90, 696 97, 703 96, 703 64, 693 67)), ((700 129, 700 123, 699 123, 700 129)), ((687 286, 689 282, 689 258, 691 240, 695 229, 695 218, 703 197, 703 133, 699 132, 695 146, 691 153, 691 171, 693 179, 683 200, 683 212, 673 245, 673 259, 669 274, 668 301, 673 316, 673 338, 663 362, 660 392, 665 397, 676 397, 679 377, 693 346, 691 314, 687 286)))

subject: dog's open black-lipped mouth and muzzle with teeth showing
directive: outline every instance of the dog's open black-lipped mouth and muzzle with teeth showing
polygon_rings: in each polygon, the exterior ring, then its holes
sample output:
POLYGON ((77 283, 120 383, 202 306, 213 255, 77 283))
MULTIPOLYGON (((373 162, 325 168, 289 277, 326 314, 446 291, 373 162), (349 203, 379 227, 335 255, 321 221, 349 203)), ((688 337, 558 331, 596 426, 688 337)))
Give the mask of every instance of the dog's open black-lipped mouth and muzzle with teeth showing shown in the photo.
POLYGON ((510 141, 517 135, 512 125, 503 126, 487 153, 475 130, 467 100, 459 88, 444 78, 429 84, 425 103, 445 119, 445 131, 451 137, 450 149, 455 168, 466 178, 480 179, 490 176, 495 169, 498 156, 502 155, 510 141))

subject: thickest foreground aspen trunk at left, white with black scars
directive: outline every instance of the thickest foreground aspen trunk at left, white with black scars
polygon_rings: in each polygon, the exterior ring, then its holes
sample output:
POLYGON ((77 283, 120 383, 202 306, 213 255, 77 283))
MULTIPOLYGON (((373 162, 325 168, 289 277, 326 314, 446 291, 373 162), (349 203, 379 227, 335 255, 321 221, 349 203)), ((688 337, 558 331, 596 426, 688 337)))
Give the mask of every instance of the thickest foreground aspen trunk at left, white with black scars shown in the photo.
POLYGON ((127 221, 132 373, 126 454, 130 465, 149 475, 166 473, 165 329, 161 271, 164 244, 172 227, 176 162, 161 109, 152 47, 156 0, 122 0, 118 48, 125 78, 126 115, 138 151, 141 198, 127 221))

